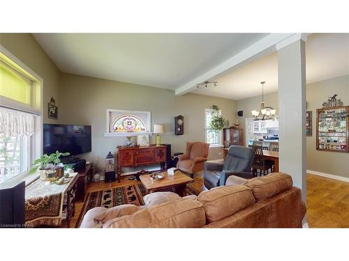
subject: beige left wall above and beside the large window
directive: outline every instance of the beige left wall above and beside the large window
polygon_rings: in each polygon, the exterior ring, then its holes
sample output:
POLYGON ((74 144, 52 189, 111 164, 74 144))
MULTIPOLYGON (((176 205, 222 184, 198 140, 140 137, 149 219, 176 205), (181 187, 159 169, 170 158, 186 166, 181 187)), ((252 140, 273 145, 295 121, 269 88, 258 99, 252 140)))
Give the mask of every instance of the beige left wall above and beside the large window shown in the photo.
POLYGON ((0 44, 43 78, 43 122, 59 122, 60 114, 58 120, 47 118, 47 103, 50 102, 51 97, 54 97, 56 105, 60 107, 59 76, 61 72, 57 66, 30 33, 0 33, 0 44))

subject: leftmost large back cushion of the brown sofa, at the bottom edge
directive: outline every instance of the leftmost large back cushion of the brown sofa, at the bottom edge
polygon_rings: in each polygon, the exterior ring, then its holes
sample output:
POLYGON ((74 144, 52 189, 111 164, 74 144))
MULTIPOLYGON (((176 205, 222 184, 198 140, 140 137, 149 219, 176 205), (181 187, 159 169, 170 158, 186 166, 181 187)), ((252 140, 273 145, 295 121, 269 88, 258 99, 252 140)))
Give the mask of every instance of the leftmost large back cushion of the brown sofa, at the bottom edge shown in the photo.
POLYGON ((103 228, 202 228, 205 209, 198 200, 182 198, 107 221, 103 228))

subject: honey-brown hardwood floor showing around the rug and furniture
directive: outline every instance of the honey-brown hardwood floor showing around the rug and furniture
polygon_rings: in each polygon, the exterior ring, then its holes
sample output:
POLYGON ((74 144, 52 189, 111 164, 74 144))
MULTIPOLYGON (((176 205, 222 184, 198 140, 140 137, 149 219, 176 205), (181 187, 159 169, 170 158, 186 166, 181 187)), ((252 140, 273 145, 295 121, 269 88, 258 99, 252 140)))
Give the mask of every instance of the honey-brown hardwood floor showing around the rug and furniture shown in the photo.
MULTIPOLYGON (((308 174, 307 182, 307 217, 310 228, 349 228, 349 183, 332 180, 308 174)), ((88 185, 87 192, 98 191, 112 187, 122 187, 135 184, 136 181, 122 177, 118 182, 98 182, 88 185)), ((204 191, 203 174, 195 173, 191 186, 198 191, 204 191)), ((70 219, 70 228, 75 227, 77 218, 84 203, 75 205, 75 216, 70 219)), ((62 223, 66 228, 66 221, 62 223)))

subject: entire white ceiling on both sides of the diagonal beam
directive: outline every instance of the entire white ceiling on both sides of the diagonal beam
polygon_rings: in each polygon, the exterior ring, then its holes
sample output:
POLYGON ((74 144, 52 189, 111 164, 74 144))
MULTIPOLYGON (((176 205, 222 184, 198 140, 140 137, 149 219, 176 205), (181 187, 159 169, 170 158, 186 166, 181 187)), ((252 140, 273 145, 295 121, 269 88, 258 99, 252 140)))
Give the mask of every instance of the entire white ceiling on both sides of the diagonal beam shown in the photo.
MULTIPOLYGON (((34 33, 61 72, 177 89, 267 33, 34 33)), ((313 33, 306 41, 306 82, 349 74, 349 33, 313 33)), ((276 52, 191 93, 242 100, 278 88, 276 52)))

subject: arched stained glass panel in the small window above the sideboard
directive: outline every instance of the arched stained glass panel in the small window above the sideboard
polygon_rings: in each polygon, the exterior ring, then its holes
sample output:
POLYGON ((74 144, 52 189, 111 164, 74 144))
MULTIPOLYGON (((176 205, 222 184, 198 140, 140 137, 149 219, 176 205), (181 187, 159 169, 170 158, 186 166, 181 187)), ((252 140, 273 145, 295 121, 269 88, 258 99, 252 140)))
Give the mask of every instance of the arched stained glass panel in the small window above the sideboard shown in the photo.
POLYGON ((134 115, 124 115, 114 121, 114 132, 145 132, 143 120, 134 115))

